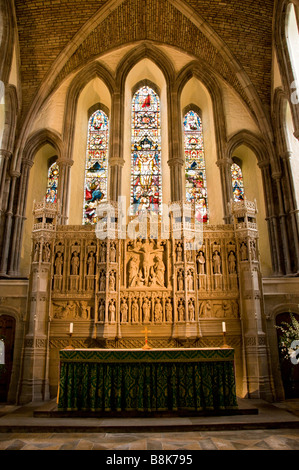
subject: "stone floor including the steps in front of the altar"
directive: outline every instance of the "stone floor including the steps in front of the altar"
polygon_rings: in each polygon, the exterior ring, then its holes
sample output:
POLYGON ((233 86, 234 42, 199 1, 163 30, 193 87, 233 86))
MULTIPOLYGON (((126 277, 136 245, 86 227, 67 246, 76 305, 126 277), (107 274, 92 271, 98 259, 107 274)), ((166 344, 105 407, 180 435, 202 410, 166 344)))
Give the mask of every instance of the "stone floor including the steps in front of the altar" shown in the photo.
POLYGON ((258 412, 125 420, 35 417, 36 404, 0 405, 0 450, 299 450, 299 400, 245 405, 258 412))

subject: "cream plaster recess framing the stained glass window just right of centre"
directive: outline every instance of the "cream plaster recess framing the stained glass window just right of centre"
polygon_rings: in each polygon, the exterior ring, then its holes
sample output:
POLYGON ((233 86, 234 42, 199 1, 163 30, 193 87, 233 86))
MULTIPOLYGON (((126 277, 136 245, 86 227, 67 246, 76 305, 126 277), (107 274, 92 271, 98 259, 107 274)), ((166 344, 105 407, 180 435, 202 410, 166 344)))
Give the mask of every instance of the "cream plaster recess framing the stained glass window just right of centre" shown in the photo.
MULTIPOLYGON (((221 191, 219 191, 219 188, 221 187, 221 179, 219 168, 216 164, 217 146, 215 137, 213 103, 207 88, 196 77, 192 77, 184 85, 181 92, 180 107, 182 121, 186 111, 190 110, 192 106, 195 107, 195 111, 200 110, 201 113, 200 117, 202 120, 203 127, 203 139, 206 161, 209 223, 211 225, 223 224, 222 193, 221 191)), ((184 148, 182 148, 182 155, 184 155, 184 148)), ((184 166, 182 168, 182 181, 184 184, 184 166)))

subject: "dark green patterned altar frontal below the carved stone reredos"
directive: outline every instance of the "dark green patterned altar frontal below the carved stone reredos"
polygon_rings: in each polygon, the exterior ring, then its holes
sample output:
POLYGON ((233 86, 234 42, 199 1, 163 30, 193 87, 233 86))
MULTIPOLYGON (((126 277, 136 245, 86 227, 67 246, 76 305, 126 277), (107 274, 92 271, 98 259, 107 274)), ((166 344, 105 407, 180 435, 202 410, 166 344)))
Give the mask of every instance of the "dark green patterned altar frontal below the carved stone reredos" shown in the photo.
POLYGON ((237 409, 233 349, 64 349, 59 411, 237 409))

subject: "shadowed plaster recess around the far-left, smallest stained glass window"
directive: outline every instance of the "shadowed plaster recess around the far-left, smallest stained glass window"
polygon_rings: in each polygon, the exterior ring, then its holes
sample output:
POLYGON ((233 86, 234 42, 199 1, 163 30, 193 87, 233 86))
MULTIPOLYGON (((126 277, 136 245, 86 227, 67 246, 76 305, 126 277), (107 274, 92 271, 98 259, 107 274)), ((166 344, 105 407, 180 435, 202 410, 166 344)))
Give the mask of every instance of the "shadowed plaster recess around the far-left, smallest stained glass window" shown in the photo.
MULTIPOLYGON (((26 220, 21 248, 20 272, 27 276, 30 268, 31 236, 34 218, 32 214, 34 201, 40 202, 46 196, 48 169, 57 158, 57 149, 49 143, 42 145, 33 155, 33 166, 30 170, 26 203, 26 220)), ((59 183, 58 183, 59 184, 59 183)))

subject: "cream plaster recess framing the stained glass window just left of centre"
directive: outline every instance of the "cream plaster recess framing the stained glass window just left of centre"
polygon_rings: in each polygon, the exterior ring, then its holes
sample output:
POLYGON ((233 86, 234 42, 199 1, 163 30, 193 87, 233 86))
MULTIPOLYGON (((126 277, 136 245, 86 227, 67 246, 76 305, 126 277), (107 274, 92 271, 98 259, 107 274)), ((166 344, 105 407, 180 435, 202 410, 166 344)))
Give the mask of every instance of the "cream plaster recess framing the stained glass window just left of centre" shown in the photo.
POLYGON ((92 112, 96 110, 95 108, 102 109, 109 117, 109 110, 111 109, 111 95, 108 87, 99 77, 95 77, 90 80, 82 89, 76 107, 72 152, 72 160, 74 163, 71 168, 68 195, 68 223, 70 225, 82 224, 88 120, 92 112))

